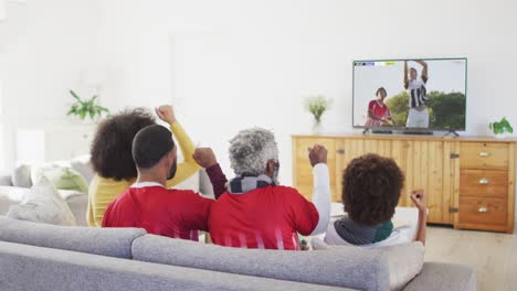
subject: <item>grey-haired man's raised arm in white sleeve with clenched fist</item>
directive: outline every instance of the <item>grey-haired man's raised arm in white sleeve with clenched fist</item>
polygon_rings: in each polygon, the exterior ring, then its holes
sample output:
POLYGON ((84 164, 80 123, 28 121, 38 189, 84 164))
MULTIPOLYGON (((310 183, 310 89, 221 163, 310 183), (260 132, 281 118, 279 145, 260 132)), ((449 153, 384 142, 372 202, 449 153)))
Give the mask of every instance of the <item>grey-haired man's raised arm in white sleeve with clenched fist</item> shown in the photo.
POLYGON ((318 235, 327 230, 330 220, 330 176, 327 166, 327 149, 316 144, 308 151, 314 177, 313 204, 319 214, 318 224, 310 235, 318 235))

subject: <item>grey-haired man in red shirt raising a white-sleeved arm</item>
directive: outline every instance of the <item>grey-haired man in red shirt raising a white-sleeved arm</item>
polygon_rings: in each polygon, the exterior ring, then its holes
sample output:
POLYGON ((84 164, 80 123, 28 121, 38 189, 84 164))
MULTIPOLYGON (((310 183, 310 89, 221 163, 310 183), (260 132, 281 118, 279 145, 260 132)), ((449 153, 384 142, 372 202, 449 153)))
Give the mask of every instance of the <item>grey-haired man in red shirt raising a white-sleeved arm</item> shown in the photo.
POLYGON ((278 184, 278 149, 271 131, 240 131, 230 141, 236 177, 210 213, 212 241, 228 247, 299 250, 298 233, 325 231, 330 212, 327 150, 315 146, 308 155, 314 168, 313 203, 297 190, 278 184))

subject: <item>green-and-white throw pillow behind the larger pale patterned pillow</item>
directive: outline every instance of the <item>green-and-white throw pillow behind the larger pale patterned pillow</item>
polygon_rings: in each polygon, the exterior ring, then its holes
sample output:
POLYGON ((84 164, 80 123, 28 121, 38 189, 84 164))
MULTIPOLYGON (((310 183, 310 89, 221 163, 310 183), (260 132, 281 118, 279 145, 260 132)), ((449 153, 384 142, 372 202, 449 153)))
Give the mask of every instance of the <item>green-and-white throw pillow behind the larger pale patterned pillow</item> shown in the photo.
POLYGON ((75 170, 66 166, 32 166, 32 183, 46 177, 56 188, 88 193, 88 182, 75 170))

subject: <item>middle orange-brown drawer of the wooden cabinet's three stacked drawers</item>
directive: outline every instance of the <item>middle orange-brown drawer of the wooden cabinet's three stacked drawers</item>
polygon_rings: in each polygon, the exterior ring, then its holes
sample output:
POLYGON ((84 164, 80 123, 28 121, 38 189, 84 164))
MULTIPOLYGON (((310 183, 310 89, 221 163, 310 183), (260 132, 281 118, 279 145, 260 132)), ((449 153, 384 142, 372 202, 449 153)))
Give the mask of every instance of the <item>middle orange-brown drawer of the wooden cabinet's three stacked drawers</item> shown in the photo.
POLYGON ((500 197, 508 196, 508 172, 497 170, 461 170, 460 195, 500 197))

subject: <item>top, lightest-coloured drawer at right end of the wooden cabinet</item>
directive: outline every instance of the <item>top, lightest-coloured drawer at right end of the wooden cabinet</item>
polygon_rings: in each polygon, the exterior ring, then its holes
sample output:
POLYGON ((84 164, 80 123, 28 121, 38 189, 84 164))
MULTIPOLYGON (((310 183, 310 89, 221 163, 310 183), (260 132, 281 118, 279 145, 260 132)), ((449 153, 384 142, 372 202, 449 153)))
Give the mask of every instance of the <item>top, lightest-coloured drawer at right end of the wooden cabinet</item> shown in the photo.
POLYGON ((508 169, 508 144, 489 142, 462 142, 461 169, 508 169))

